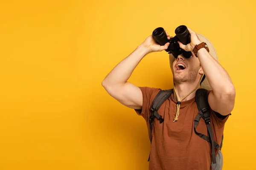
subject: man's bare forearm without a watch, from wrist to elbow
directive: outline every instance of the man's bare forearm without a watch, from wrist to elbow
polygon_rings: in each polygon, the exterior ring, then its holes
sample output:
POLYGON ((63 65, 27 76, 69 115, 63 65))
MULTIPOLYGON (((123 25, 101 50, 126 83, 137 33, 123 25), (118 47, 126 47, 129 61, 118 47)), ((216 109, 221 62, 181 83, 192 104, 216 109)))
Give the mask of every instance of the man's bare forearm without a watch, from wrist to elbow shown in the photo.
POLYGON ((105 77, 102 85, 116 86, 124 85, 140 60, 148 54, 148 49, 139 45, 128 57, 119 62, 113 70, 105 77))

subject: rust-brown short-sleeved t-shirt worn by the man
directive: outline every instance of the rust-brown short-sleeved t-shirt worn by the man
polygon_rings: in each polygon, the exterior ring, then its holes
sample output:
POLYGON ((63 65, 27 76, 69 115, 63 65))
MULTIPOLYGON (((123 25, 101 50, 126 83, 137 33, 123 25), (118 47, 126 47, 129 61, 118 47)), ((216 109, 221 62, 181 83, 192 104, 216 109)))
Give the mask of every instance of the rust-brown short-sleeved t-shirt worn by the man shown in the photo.
MULTIPOLYGON (((141 110, 135 111, 145 119, 150 135, 150 106, 161 89, 139 88, 143 94, 143 106, 141 110)), ((173 122, 177 111, 177 101, 173 99, 173 94, 157 111, 164 118, 164 122, 160 124, 158 119, 154 119, 149 170, 211 170, 211 145, 194 131, 194 120, 198 114, 195 97, 181 102, 178 121, 173 122)), ((220 145, 224 124, 229 115, 221 119, 212 110, 210 113, 214 141, 220 145)), ((196 130, 208 136, 207 126, 202 118, 196 130)), ((215 155, 217 153, 218 150, 215 155)))

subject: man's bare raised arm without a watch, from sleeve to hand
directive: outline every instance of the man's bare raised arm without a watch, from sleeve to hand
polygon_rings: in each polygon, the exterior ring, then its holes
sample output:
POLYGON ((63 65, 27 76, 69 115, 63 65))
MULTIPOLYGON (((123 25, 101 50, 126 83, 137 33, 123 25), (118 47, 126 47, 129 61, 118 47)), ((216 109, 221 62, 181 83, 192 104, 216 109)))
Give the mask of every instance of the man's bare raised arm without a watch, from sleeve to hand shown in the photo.
MULTIPOLYGON (((168 39, 170 39, 169 34, 167 32, 166 34, 168 39)), ((154 41, 153 36, 150 35, 128 57, 113 68, 102 81, 102 86, 108 94, 123 105, 133 109, 141 109, 143 103, 142 92, 136 85, 127 81, 146 54, 154 51, 163 51, 168 46, 169 42, 162 46, 158 45, 154 41)))

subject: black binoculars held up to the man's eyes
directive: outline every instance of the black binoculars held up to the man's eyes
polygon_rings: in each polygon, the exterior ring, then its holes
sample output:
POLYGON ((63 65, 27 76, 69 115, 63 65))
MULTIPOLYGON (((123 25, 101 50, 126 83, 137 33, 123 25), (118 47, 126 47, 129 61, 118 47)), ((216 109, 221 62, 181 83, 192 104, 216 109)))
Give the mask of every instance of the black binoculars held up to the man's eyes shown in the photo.
POLYGON ((168 40, 166 31, 162 27, 158 27, 154 29, 152 36, 154 40, 159 45, 165 45, 167 42, 170 42, 168 48, 165 50, 166 52, 169 52, 168 54, 172 53, 172 55, 177 58, 178 55, 183 54, 184 57, 189 58, 192 56, 191 51, 185 51, 182 48, 180 48, 180 45, 178 41, 182 42, 184 45, 187 45, 190 43, 190 34, 189 30, 186 26, 178 26, 175 29, 175 37, 168 40))

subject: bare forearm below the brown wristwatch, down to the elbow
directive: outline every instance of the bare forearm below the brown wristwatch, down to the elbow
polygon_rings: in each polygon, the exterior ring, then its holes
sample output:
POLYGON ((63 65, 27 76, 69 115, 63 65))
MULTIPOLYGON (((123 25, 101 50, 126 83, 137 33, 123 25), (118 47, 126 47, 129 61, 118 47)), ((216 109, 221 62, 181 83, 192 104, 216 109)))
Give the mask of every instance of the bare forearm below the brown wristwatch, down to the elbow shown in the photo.
POLYGON ((227 94, 234 94, 235 88, 227 71, 205 48, 201 48, 197 55, 214 95, 227 96, 227 94))

